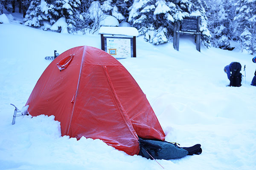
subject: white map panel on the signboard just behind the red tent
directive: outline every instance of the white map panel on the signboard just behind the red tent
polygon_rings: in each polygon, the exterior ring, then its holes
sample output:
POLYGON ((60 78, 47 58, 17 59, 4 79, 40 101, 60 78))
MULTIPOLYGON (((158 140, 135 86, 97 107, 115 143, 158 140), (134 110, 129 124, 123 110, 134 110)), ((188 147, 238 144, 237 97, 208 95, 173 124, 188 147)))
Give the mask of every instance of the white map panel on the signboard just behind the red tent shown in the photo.
POLYGON ((131 57, 131 39, 129 38, 106 38, 107 52, 114 58, 131 57))

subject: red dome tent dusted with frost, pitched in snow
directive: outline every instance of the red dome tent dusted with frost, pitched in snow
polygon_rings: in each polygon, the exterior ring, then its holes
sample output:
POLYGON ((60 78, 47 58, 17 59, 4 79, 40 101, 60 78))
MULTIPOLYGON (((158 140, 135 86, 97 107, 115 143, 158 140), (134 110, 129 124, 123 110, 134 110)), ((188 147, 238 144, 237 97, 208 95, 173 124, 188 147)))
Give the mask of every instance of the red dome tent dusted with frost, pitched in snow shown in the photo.
POLYGON ((99 138, 129 155, 139 153, 138 136, 165 138, 130 73, 111 55, 90 46, 69 49, 52 61, 26 105, 32 116, 55 115, 61 135, 99 138))

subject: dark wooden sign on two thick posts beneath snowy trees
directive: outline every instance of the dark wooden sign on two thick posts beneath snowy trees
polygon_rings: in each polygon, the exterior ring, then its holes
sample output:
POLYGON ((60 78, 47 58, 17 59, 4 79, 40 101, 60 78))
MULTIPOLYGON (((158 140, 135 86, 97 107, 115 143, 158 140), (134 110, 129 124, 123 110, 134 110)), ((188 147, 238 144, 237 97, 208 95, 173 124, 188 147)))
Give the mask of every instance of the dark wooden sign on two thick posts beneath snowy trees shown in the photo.
POLYGON ((196 49, 200 52, 200 17, 185 17, 182 23, 175 24, 175 31, 173 36, 173 48, 179 51, 180 34, 195 35, 196 49))

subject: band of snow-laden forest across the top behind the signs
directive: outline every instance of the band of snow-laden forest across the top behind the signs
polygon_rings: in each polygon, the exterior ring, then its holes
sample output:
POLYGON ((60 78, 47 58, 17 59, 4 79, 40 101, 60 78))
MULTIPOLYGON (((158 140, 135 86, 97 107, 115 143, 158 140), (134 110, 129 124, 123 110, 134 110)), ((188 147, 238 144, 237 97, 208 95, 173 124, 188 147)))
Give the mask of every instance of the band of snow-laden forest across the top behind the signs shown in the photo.
POLYGON ((93 34, 111 16, 115 26, 127 23, 154 45, 173 40, 175 23, 200 16, 207 48, 232 50, 238 42, 241 52, 256 53, 256 0, 0 0, 0 15, 5 11, 22 13, 26 26, 56 32, 65 26, 70 34, 93 34), (66 24, 51 29, 58 20, 66 24))

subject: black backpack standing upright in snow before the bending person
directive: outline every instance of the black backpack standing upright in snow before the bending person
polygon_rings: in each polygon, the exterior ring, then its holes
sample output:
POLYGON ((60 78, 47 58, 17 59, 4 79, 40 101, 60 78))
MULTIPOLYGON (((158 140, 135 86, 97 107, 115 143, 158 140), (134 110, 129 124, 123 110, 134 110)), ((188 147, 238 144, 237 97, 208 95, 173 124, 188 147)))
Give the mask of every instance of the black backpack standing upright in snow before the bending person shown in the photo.
POLYGON ((242 74, 241 74, 241 64, 238 62, 234 62, 231 65, 230 71, 232 72, 230 75, 230 86, 240 87, 242 81, 242 74))

